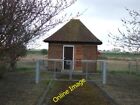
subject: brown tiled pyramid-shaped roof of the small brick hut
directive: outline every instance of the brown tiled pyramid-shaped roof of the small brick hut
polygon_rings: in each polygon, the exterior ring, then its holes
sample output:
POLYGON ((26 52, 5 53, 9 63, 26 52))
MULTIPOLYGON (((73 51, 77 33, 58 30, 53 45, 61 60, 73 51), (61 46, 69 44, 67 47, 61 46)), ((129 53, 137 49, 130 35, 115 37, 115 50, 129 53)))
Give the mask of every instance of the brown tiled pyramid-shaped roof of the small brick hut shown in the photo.
POLYGON ((78 19, 71 19, 44 42, 102 44, 78 19))

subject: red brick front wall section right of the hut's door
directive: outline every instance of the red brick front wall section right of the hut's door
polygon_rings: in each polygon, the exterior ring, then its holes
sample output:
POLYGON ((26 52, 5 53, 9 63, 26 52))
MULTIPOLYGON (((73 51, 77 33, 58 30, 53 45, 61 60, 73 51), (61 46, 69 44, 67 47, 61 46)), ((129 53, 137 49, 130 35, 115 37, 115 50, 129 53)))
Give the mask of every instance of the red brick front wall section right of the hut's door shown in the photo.
MULTIPOLYGON (((75 45, 75 60, 97 60, 97 46, 96 45, 75 45)), ((96 72, 97 63, 82 63, 75 62, 76 70, 85 70, 88 72, 96 72)))

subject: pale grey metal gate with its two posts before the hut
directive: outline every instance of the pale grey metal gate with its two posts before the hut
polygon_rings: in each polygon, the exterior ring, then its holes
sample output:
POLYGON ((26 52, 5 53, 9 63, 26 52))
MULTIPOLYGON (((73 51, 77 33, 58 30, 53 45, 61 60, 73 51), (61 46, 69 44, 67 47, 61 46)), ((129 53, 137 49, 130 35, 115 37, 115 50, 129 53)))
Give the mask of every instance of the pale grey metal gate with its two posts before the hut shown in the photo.
POLYGON ((107 82, 107 63, 105 60, 61 60, 48 59, 36 61, 35 82, 42 80, 41 71, 50 74, 47 79, 71 80, 85 78, 87 81, 107 82), (67 67, 66 67, 67 66, 67 67))

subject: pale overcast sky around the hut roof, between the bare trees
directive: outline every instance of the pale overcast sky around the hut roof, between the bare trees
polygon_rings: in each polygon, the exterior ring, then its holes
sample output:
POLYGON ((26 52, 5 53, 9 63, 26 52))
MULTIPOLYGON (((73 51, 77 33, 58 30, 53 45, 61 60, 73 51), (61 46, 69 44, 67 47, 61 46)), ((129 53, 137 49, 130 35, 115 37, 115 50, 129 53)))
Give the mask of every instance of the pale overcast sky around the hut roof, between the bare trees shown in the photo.
MULTIPOLYGON (((104 50, 112 49, 108 43, 108 33, 116 34, 117 29, 121 27, 121 18, 129 16, 125 8, 140 11, 140 0, 78 0, 66 11, 75 13, 86 10, 78 18, 103 42, 103 45, 99 46, 99 50, 104 50)), ((38 46, 33 47, 37 49, 47 48, 47 44, 42 40, 57 29, 58 27, 37 40, 38 46)))

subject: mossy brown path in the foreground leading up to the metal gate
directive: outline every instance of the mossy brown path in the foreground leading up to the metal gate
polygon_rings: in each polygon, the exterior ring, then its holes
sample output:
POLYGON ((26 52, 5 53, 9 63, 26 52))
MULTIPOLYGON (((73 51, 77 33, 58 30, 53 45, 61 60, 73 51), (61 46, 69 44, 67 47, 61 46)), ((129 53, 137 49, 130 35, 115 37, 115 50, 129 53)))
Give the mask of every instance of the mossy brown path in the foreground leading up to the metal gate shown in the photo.
POLYGON ((57 103, 53 102, 53 97, 67 90, 72 84, 75 84, 75 82, 55 82, 49 93, 49 98, 46 97, 43 105, 113 105, 96 85, 87 82, 67 94, 57 103))

